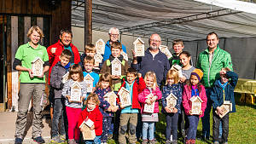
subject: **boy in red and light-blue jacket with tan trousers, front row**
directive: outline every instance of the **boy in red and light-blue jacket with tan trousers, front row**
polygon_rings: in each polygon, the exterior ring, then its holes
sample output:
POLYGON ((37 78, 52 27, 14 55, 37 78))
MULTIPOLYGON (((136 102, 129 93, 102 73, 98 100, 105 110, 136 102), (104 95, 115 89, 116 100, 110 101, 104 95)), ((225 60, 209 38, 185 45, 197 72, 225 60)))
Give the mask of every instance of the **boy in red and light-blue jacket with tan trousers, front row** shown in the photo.
POLYGON ((143 78, 137 78, 137 72, 134 68, 128 68, 126 72, 126 81, 122 84, 121 87, 129 89, 131 96, 131 106, 122 107, 120 104, 121 115, 120 115, 120 124, 119 124, 119 143, 125 144, 126 138, 125 133, 129 130, 128 140, 130 143, 136 143, 136 127, 137 127, 137 113, 141 108, 140 103, 138 102, 138 94, 143 91, 146 87, 143 78), (129 125, 129 128, 128 128, 129 125))

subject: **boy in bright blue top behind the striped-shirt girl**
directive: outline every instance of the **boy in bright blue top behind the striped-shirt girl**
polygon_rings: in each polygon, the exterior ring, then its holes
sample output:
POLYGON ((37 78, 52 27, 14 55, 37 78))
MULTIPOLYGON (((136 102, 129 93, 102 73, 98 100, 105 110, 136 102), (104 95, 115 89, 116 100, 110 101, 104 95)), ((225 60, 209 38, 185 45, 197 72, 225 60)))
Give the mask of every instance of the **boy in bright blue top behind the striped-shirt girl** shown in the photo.
POLYGON ((96 84, 99 81, 99 75, 96 72, 92 72, 94 64, 95 64, 95 60, 94 60, 93 57, 86 56, 84 58, 84 72, 83 72, 83 74, 84 74, 84 77, 85 77, 89 73, 90 76, 93 78, 92 92, 96 89, 96 84))

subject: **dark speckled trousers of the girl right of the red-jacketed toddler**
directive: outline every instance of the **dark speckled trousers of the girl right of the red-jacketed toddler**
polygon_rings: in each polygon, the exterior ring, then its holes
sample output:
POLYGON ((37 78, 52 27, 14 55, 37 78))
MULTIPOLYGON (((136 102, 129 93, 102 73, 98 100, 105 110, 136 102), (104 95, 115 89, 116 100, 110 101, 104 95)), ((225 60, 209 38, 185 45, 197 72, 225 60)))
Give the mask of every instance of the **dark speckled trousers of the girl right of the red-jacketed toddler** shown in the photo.
POLYGON ((112 117, 103 117, 102 136, 101 136, 102 142, 108 141, 108 134, 109 134, 109 130, 111 129, 111 126, 112 126, 112 117))

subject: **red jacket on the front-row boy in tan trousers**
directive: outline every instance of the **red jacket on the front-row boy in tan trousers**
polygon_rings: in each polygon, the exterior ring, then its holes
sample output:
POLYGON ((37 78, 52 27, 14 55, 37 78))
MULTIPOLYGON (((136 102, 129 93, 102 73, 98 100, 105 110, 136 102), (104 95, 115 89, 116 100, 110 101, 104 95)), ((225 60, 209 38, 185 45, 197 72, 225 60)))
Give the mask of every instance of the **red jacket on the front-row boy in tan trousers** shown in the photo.
MULTIPOLYGON (((137 80, 135 80, 133 87, 132 87, 132 104, 131 104, 131 108, 138 108, 141 109, 141 105, 138 101, 138 95, 143 92, 143 89, 146 88, 146 84, 143 80, 143 78, 139 78, 139 84, 137 84, 137 80)), ((122 87, 125 87, 125 82, 121 85, 122 87)), ((119 95, 118 95, 119 96, 119 95)))

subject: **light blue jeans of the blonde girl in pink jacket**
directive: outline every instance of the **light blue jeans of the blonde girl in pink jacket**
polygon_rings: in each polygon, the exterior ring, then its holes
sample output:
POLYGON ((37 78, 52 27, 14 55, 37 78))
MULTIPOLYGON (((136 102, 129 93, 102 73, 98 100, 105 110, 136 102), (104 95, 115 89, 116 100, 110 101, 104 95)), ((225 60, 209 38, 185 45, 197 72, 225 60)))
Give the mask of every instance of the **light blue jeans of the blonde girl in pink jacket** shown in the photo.
POLYGON ((143 140, 154 139, 154 122, 143 122, 143 140), (149 136, 148 136, 149 135, 149 136))

